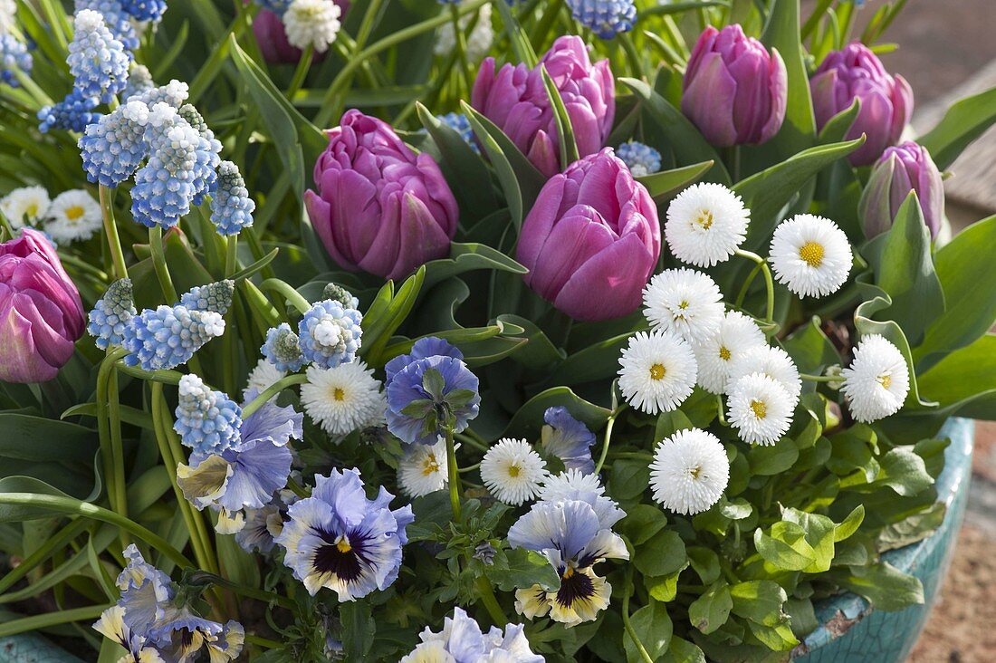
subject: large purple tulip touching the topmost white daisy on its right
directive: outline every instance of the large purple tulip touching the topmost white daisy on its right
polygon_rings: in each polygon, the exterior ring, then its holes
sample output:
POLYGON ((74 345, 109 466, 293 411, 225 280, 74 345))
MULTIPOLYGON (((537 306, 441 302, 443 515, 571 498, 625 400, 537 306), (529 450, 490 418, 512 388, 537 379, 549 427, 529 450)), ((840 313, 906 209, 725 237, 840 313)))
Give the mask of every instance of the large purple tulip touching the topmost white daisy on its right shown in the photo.
POLYGON ((543 186, 516 259, 526 284, 561 311, 609 320, 636 310, 659 255, 657 207, 607 148, 543 186))

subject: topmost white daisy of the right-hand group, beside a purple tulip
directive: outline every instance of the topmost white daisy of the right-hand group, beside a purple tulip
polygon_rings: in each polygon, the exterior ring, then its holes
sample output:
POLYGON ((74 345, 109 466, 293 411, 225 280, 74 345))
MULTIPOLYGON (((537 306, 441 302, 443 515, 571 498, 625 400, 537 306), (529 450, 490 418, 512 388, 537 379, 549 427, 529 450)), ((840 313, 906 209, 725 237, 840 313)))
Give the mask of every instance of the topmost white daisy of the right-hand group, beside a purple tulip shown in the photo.
POLYGON ((747 237, 749 221, 743 200, 727 187, 692 184, 667 207, 664 236, 682 262, 711 267, 729 260, 747 237))

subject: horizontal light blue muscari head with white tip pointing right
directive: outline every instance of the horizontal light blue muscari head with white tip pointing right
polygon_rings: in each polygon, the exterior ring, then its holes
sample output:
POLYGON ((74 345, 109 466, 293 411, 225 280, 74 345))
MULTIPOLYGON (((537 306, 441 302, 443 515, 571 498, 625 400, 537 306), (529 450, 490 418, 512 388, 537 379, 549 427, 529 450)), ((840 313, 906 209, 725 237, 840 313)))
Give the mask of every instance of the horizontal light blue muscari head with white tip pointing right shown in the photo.
POLYGON ((124 363, 145 371, 176 368, 224 331, 225 320, 214 311, 191 311, 179 304, 145 309, 124 329, 122 345, 129 352, 124 363))

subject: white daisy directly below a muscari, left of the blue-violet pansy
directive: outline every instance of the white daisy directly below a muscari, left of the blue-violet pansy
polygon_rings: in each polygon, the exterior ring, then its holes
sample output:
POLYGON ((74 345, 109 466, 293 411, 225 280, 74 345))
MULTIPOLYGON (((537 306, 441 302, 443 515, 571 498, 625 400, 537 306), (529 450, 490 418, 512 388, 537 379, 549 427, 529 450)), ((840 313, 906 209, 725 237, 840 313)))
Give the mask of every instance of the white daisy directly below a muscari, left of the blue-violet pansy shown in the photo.
POLYGON ((373 369, 362 361, 308 369, 301 403, 308 416, 333 436, 345 436, 383 418, 384 400, 373 369))

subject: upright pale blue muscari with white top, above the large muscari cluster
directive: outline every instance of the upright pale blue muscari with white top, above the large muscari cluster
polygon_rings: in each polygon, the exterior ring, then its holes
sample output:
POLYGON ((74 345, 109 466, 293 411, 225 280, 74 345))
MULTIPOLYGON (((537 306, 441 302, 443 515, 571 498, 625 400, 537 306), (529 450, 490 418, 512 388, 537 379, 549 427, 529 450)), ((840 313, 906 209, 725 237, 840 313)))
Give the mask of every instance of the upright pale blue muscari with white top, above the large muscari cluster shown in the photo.
POLYGON ((75 26, 66 59, 73 86, 84 97, 110 103, 127 83, 130 54, 108 30, 100 13, 92 9, 78 12, 75 26))

